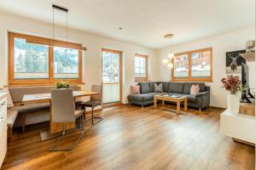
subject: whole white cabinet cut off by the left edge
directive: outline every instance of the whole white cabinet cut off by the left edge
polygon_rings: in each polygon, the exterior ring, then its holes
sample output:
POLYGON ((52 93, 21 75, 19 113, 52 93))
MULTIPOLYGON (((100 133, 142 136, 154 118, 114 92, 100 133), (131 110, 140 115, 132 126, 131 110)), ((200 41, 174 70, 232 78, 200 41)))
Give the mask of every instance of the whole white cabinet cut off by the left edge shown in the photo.
POLYGON ((7 151, 7 97, 0 93, 0 168, 7 151))

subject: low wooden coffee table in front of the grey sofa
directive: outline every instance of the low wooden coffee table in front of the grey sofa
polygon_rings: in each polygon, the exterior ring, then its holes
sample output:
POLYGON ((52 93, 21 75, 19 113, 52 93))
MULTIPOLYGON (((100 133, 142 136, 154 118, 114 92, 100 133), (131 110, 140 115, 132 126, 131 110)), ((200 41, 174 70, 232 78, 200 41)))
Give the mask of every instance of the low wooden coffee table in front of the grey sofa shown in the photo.
POLYGON ((172 97, 164 96, 164 94, 154 95, 154 108, 157 107, 157 100, 162 100, 162 105, 165 105, 165 101, 172 101, 177 103, 177 114, 180 114, 180 103, 184 102, 184 111, 188 110, 188 98, 187 96, 172 97))

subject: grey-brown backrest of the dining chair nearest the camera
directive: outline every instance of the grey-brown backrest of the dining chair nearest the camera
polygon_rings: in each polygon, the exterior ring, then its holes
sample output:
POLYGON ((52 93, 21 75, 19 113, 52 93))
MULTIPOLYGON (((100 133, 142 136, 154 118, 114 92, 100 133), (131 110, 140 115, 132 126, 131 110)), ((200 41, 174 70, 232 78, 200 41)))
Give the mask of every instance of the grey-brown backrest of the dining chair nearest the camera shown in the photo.
POLYGON ((52 122, 75 122, 72 89, 51 89, 52 122))

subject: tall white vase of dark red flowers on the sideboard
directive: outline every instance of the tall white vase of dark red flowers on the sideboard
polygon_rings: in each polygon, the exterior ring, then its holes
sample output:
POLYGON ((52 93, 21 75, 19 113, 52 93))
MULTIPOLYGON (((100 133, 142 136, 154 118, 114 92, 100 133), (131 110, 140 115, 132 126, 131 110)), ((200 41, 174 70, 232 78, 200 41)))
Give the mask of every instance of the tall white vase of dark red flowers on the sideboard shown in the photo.
POLYGON ((228 94, 228 110, 231 114, 238 114, 240 106, 240 94, 244 90, 241 87, 241 80, 238 76, 229 75, 221 79, 223 88, 225 88, 230 94, 228 94))

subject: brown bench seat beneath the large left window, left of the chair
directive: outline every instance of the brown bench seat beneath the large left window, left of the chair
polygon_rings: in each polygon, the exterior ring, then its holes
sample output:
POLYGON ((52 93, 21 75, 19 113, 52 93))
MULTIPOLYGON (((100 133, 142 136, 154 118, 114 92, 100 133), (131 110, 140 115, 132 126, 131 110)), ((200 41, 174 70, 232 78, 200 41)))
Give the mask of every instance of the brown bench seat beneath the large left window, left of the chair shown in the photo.
POLYGON ((17 105, 14 107, 19 113, 30 113, 34 111, 49 110, 49 102, 17 105))

